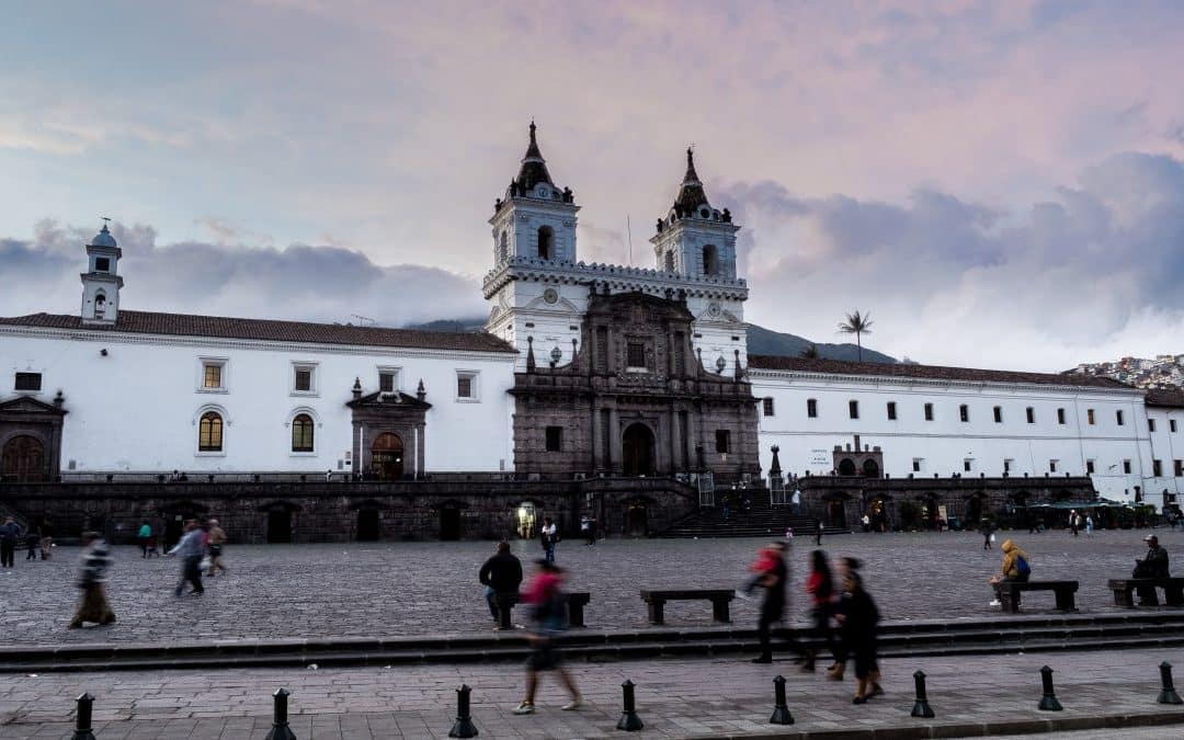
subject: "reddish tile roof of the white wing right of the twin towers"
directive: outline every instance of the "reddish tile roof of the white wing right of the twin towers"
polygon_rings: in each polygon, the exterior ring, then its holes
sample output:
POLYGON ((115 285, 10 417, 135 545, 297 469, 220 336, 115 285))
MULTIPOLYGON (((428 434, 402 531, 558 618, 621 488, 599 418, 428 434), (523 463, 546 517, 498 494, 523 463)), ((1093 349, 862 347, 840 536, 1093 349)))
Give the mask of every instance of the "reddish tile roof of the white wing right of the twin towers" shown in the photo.
POLYGON ((748 367, 754 369, 780 369, 800 373, 829 373, 836 375, 884 375, 890 378, 916 378, 921 380, 965 380, 971 382, 1027 382, 1038 385, 1088 386, 1100 388, 1131 388, 1111 378, 1094 378, 1075 373, 1021 373, 1014 371, 977 369, 972 367, 941 367, 939 365, 888 365, 881 362, 850 362, 848 360, 822 360, 810 358, 780 358, 748 355, 748 367))

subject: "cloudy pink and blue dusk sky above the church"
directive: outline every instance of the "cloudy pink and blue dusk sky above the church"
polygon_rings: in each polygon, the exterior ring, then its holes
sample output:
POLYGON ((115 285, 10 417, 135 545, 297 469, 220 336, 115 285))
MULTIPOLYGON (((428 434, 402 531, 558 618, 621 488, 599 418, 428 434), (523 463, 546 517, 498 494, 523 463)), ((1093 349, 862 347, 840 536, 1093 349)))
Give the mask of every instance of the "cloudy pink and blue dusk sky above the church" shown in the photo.
POLYGON ((1184 353, 1184 4, 17 4, 0 315, 483 316, 538 122, 579 258, 652 265, 694 144, 746 318, 1060 371, 1184 353), (632 239, 630 250, 629 239, 632 239), (630 257, 631 255, 631 257, 630 257))

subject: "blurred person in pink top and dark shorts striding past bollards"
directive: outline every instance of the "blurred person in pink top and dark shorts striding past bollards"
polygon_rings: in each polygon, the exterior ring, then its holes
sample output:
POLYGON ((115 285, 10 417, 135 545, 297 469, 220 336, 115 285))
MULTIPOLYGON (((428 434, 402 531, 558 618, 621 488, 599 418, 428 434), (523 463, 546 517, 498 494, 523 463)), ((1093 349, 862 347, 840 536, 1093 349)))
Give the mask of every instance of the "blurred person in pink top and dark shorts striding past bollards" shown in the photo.
POLYGON ((564 630, 567 607, 564 601, 564 570, 549 560, 536 561, 539 570, 523 590, 523 598, 530 605, 530 657, 526 662, 526 697, 514 708, 514 714, 534 714, 534 697, 539 688, 539 671, 559 671, 559 680, 572 695, 572 701, 561 707, 573 712, 584 706, 584 699, 575 688, 575 681, 564 668, 555 639, 564 630))

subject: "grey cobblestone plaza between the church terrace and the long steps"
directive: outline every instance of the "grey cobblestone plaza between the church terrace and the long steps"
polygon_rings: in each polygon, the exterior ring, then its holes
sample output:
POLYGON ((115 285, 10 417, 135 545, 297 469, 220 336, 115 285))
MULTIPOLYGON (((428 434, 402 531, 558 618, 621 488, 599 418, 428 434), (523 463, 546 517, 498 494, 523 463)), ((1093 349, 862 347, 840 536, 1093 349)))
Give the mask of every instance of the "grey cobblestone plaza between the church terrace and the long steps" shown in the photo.
MULTIPOLYGON (((1159 529, 1173 558, 1184 556, 1184 533, 1159 529)), ((233 533, 231 533, 233 535, 233 533)), ((1000 533, 1004 534, 1005 533, 1000 533)), ((1143 532, 1073 538, 1067 532, 1017 535, 1031 555, 1035 578, 1081 581, 1083 613, 1114 612, 1106 579, 1125 575, 1145 552, 1143 532)), ((1000 540, 1003 538, 1000 536, 1000 540)), ((596 629, 645 629, 638 590, 646 586, 733 587, 762 540, 607 540, 559 546, 572 590, 590 591, 587 624, 596 629)), ((792 553, 793 607, 804 620, 802 584, 813 547, 799 538, 792 553)), ((997 616, 985 580, 998 570, 998 549, 982 549, 973 533, 844 535, 824 540, 832 556, 866 561, 869 590, 886 619, 997 616)), ((211 638, 414 636, 484 631, 491 619, 476 583, 489 542, 400 542, 231 546, 231 573, 212 579, 201 598, 173 597, 179 562, 142 560, 134 547, 115 549, 109 591, 118 614, 110 628, 67 631, 78 592, 76 548, 54 548, 49 561, 26 561, 0 572, 0 635, 15 644, 178 642, 211 638)), ((529 560, 535 542, 515 551, 529 560)), ((1025 599, 1031 613, 1048 611, 1048 594, 1025 599)), ((733 603, 738 624, 755 623, 755 605, 733 603)), ((702 603, 667 606, 670 626, 710 625, 702 603)))

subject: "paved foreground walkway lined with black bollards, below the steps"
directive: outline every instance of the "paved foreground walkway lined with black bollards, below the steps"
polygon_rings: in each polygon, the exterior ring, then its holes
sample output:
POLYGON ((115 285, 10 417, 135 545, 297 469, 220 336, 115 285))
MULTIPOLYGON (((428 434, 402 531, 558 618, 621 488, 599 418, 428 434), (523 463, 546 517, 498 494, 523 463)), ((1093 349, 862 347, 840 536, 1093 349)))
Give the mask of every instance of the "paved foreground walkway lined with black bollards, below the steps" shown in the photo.
MULTIPOLYGON (((543 677, 539 714, 514 716, 522 671, 514 665, 416 667, 393 669, 225 670, 212 674, 161 671, 144 675, 52 674, 0 683, 0 738, 65 738, 73 697, 96 696, 99 740, 263 738, 270 728, 270 694, 291 693, 292 729, 301 740, 321 738, 443 738, 455 719, 456 688, 472 687, 472 718, 483 738, 620 736, 620 683, 637 684, 641 736, 707 736, 821 732, 875 727, 978 726, 1004 719, 1066 720, 1098 715, 1164 713, 1184 722, 1184 707, 1156 703, 1158 664, 1184 664, 1184 650, 1014 655, 976 658, 884 661, 887 695, 852 706, 850 681, 838 684, 809 675, 789 661, 754 665, 744 659, 665 659, 644 663, 573 663, 587 700, 579 712, 558 682, 543 677), (1056 669, 1064 712, 1036 709, 1040 667, 1056 669), (928 675, 937 718, 915 720, 912 674, 928 675), (792 727, 767 723, 772 678, 787 678, 792 727)), ((1147 731, 1146 738, 1179 738, 1184 727, 1147 731)))

